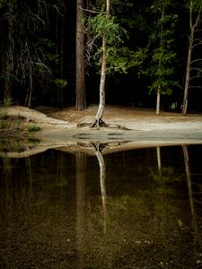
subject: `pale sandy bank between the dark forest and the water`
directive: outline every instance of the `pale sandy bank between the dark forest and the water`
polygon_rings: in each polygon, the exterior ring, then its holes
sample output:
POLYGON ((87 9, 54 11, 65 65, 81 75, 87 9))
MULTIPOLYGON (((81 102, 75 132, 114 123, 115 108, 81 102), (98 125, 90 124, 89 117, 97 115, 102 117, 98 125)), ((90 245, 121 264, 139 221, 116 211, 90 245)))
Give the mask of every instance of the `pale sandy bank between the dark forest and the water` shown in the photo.
MULTIPOLYGON (((162 111, 156 116, 150 108, 127 108, 107 105, 103 120, 108 125, 90 128, 97 105, 82 111, 74 107, 36 109, 13 106, 1 108, 1 114, 24 117, 27 124, 40 127, 34 137, 45 148, 65 147, 78 143, 112 143, 110 150, 153 145, 202 143, 202 114, 162 111), (127 143, 126 143, 127 142, 127 143), (121 143, 121 146, 120 146, 121 143)), ((24 126, 24 121, 23 121, 24 126)), ((0 130, 1 131, 1 130, 0 130)), ((1 134, 1 132, 0 132, 1 134)))

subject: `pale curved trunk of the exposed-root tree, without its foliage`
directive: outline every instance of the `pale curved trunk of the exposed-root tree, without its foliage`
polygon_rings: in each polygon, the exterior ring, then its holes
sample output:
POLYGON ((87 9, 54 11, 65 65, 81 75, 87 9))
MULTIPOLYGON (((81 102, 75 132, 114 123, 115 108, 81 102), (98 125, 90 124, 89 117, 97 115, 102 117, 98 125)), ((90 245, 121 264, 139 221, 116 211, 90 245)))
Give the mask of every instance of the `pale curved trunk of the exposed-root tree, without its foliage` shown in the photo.
MULTIPOLYGON (((110 0, 106 0, 106 16, 110 16, 110 0)), ((103 34, 102 38, 102 60, 101 60, 101 82, 100 82, 100 103, 94 121, 91 127, 105 125, 101 117, 103 116, 105 107, 105 82, 106 82, 106 71, 107 71, 107 37, 106 33, 103 34)))

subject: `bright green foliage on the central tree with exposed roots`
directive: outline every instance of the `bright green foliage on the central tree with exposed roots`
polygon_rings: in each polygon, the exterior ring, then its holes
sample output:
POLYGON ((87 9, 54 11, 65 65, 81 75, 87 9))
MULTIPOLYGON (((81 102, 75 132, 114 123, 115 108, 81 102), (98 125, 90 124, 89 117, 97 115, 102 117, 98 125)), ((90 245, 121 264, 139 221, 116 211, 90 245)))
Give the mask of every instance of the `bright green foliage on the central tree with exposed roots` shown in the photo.
POLYGON ((92 49, 91 52, 86 48, 88 50, 87 55, 92 54, 91 57, 88 57, 91 60, 93 59, 98 69, 101 68, 101 39, 103 35, 105 35, 107 40, 108 74, 127 74, 128 68, 136 65, 134 51, 124 46, 124 39, 127 39, 127 31, 119 25, 115 16, 107 17, 105 13, 98 13, 94 17, 86 18, 85 24, 88 38, 92 40, 92 45, 96 48, 92 49))

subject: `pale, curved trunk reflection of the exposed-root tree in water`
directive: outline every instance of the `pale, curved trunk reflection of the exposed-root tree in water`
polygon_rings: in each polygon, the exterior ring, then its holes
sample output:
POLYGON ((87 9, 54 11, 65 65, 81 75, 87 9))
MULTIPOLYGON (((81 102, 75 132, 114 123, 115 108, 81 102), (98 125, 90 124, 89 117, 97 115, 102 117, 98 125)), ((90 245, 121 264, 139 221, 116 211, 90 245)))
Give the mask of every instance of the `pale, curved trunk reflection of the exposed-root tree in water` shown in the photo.
POLYGON ((107 199, 106 199, 106 186, 105 186, 105 178, 106 178, 106 170, 104 158, 101 154, 100 144, 96 145, 95 155, 99 161, 100 166, 100 181, 101 181, 101 199, 102 199, 102 208, 104 215, 104 233, 107 231, 107 199))

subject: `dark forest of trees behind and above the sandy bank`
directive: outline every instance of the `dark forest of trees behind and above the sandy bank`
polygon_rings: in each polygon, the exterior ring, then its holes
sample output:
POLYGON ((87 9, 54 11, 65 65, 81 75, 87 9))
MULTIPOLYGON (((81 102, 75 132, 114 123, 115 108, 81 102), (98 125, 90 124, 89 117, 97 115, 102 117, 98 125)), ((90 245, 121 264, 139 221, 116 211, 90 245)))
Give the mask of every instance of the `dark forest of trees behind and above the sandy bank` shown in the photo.
MULTIPOLYGON (((179 108, 201 95, 202 0, 0 0, 0 101, 179 108), (100 96, 99 96, 100 88, 100 96)), ((101 123, 101 122, 100 122, 101 123)))

